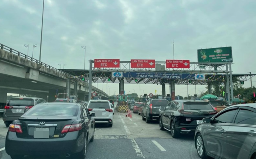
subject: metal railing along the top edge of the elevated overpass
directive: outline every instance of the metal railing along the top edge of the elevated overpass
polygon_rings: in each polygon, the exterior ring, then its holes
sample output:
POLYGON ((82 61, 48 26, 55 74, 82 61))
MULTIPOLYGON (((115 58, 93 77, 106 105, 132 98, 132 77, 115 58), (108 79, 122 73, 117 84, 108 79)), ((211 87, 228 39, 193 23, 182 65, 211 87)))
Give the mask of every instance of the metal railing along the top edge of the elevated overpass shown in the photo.
MULTIPOLYGON (((19 57, 25 58, 25 59, 27 59, 27 60, 29 60, 29 61, 35 62, 36 64, 39 64, 39 60, 37 60, 37 59, 35 59, 35 58, 33 58, 33 57, 30 57, 30 56, 28 56, 28 55, 26 55, 26 54, 23 54, 23 53, 21 53, 20 51, 17 51, 17 50, 15 50, 15 49, 12 49, 12 48, 10 48, 10 47, 4 45, 4 44, 1 44, 1 43, 0 43, 0 49, 3 49, 3 50, 5 50, 5 51, 8 51, 8 52, 10 52, 10 53, 12 53, 12 54, 18 55, 19 57)), ((57 69, 57 68, 55 68, 55 67, 52 67, 52 66, 50 66, 50 65, 48 65, 48 64, 45 64, 45 63, 43 63, 43 62, 40 62, 40 64, 41 64, 42 66, 46 67, 46 68, 49 68, 49 69, 54 70, 54 71, 56 71, 56 72, 59 72, 59 73, 61 73, 61 74, 65 74, 65 72, 60 71, 59 69, 57 69)))

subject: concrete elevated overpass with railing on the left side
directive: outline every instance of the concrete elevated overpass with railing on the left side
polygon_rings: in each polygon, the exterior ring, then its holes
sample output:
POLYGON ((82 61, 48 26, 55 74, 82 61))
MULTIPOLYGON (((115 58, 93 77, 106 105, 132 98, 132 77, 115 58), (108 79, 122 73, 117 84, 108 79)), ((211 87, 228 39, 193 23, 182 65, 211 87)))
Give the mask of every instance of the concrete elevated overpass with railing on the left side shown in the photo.
MULTIPOLYGON (((7 93, 29 94, 52 102, 56 93, 77 94, 80 100, 88 100, 88 86, 80 79, 70 79, 68 74, 48 64, 39 64, 35 58, 0 43, 0 102, 6 102, 7 93)), ((91 92, 108 95, 92 87, 91 92)), ((90 93, 91 94, 91 93, 90 93)))

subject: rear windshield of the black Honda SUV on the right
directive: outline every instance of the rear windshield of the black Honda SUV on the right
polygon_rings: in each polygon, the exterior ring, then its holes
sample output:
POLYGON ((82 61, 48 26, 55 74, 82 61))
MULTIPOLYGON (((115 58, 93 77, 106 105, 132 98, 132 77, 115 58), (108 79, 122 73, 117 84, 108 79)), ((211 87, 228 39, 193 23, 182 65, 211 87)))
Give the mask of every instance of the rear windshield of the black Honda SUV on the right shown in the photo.
POLYGON ((184 102, 184 110, 213 110, 209 102, 184 102))

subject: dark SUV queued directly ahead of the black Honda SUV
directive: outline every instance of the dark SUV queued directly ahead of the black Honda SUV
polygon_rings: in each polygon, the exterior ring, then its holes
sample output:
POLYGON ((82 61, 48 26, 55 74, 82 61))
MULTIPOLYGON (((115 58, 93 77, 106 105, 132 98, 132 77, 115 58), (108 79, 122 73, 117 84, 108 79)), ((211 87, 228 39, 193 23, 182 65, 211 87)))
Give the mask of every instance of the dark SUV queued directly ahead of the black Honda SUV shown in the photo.
POLYGON ((142 120, 146 120, 146 123, 150 123, 150 120, 159 118, 161 107, 166 107, 168 101, 166 99, 149 99, 145 106, 142 108, 142 120))

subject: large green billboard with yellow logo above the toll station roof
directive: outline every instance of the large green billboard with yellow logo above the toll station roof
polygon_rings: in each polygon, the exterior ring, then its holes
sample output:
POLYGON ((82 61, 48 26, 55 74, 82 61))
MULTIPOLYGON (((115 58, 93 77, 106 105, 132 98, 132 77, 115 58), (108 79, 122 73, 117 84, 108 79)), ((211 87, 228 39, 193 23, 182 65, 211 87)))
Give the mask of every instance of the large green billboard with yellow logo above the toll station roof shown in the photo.
POLYGON ((232 47, 197 50, 198 62, 233 62, 232 47))

